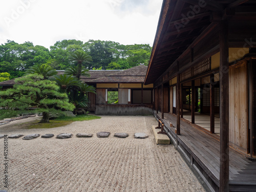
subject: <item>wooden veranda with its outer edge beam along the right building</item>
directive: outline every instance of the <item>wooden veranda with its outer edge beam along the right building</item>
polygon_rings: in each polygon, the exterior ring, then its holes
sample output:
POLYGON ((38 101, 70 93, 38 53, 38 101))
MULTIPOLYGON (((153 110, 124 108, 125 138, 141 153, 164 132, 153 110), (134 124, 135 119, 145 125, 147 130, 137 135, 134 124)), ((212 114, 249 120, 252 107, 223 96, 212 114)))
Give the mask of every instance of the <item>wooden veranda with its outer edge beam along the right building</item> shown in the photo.
MULTIPOLYGON (((154 115, 161 119, 160 112, 154 115)), ((178 151, 186 157, 212 191, 220 187, 220 139, 216 134, 204 132, 181 118, 180 135, 175 134, 177 117, 164 113, 164 130, 178 151), (170 126, 170 123, 174 127, 170 126)), ((256 162, 229 148, 229 191, 256 191, 256 162)))

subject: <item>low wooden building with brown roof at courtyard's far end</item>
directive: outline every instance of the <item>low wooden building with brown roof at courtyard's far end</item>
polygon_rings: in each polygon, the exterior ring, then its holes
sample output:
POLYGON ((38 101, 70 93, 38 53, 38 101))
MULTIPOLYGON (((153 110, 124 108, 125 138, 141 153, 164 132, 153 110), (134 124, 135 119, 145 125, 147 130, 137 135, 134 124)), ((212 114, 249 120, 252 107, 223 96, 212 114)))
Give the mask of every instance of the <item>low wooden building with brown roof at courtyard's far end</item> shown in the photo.
MULTIPOLYGON (((153 84, 143 84, 146 70, 139 65, 126 70, 90 70, 90 77, 81 76, 81 81, 96 88, 96 94, 88 93, 89 111, 96 115, 152 115, 153 84), (111 94, 118 98, 116 103, 109 102, 111 94)), ((12 88, 14 83, 14 79, 3 81, 0 87, 12 88)))

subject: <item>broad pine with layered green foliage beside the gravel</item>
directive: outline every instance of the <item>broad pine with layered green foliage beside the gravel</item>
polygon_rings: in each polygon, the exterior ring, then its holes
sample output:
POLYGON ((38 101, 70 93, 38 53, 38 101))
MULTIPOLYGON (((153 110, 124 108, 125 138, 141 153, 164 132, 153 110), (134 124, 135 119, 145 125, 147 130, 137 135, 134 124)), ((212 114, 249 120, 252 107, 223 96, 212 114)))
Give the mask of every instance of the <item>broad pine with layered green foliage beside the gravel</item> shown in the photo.
POLYGON ((68 102, 68 95, 60 93, 54 81, 38 74, 29 74, 15 79, 12 89, 0 92, 0 106, 13 110, 26 110, 36 106, 42 113, 40 123, 49 122, 49 113, 61 110, 73 111, 75 106, 68 102))

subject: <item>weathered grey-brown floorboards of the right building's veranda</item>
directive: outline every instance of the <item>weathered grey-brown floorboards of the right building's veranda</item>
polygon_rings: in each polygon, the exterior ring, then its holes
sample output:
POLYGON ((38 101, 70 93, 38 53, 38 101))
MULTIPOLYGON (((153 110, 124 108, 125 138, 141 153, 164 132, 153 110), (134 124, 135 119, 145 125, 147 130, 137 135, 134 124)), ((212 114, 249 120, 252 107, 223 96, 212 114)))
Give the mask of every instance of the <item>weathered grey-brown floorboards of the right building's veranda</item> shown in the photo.
MULTIPOLYGON (((161 113, 156 114, 159 118, 161 113)), ((185 115, 184 115, 185 117, 185 115)), ((165 126, 172 135, 175 135, 176 116, 164 113, 165 126), (172 123, 174 127, 170 127, 172 123)), ((219 185, 220 179, 220 141, 218 137, 204 133, 202 130, 181 121, 181 135, 178 142, 193 156, 194 160, 206 171, 208 176, 219 185)), ((250 190, 256 183, 256 162, 251 162, 241 153, 229 148, 229 181, 231 189, 239 188, 250 190), (245 185, 249 186, 245 186, 245 185)), ((256 185, 255 185, 256 186, 256 185)))

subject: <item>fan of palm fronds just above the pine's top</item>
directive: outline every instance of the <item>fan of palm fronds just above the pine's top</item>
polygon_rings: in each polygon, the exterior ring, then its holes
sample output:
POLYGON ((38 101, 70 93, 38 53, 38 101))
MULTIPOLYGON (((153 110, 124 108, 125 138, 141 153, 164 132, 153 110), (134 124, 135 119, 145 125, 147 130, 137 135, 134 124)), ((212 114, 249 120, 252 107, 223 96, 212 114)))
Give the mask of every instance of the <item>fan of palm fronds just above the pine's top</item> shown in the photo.
POLYGON ((48 79, 50 76, 56 75, 57 71, 49 66, 32 66, 27 70, 27 74, 38 74, 44 76, 44 79, 48 79))

